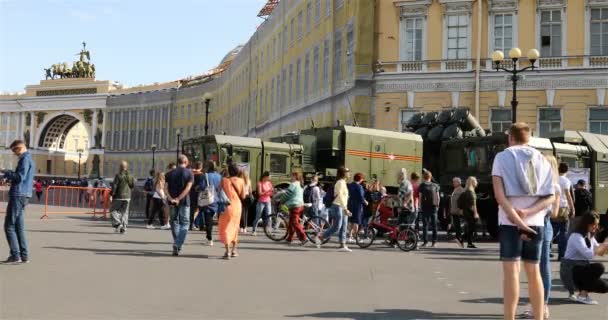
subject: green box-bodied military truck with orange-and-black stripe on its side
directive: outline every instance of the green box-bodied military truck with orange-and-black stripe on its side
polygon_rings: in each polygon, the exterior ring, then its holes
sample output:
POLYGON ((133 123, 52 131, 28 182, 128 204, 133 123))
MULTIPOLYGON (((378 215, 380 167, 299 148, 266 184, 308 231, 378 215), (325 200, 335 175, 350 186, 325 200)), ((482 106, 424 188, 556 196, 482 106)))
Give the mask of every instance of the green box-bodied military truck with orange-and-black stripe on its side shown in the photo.
POLYGON ((422 170, 422 138, 412 133, 338 125, 271 141, 302 145, 304 173, 320 173, 324 181, 334 180, 338 167, 345 166, 352 174, 363 173, 368 181, 378 179, 389 192, 396 192, 401 168, 422 170))

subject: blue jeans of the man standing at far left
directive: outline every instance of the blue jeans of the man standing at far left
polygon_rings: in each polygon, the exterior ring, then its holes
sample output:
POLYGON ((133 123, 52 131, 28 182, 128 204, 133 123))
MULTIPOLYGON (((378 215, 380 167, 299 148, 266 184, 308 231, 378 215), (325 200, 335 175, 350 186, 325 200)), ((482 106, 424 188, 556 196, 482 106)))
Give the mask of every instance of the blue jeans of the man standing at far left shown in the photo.
POLYGON ((11 250, 11 257, 28 257, 27 240, 25 239, 25 206, 30 198, 10 196, 4 216, 4 233, 11 250))

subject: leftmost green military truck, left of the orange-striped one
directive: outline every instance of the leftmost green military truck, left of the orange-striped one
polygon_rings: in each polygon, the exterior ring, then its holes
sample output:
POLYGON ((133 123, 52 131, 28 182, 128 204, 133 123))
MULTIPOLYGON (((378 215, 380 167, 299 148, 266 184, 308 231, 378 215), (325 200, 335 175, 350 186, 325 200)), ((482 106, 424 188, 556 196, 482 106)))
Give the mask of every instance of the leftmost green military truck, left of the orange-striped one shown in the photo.
POLYGON ((264 171, 268 171, 275 186, 289 183, 292 172, 302 171, 302 146, 297 144, 209 135, 185 140, 182 151, 191 162, 213 160, 220 167, 225 167, 232 160, 254 182, 260 179, 264 171))

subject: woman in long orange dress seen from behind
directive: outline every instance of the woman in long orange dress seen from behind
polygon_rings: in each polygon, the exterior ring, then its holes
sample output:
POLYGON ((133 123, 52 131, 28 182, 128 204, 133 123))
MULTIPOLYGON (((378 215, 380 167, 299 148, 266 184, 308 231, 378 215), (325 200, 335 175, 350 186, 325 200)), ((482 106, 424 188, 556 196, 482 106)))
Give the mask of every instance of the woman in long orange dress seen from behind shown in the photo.
POLYGON ((222 178, 221 188, 230 200, 230 205, 226 206, 224 212, 219 215, 218 230, 220 241, 224 243, 226 248, 224 259, 229 260, 230 257, 234 258, 239 255, 236 246, 243 210, 241 200, 245 198, 245 182, 238 177, 239 168, 235 164, 228 166, 227 173, 222 178))

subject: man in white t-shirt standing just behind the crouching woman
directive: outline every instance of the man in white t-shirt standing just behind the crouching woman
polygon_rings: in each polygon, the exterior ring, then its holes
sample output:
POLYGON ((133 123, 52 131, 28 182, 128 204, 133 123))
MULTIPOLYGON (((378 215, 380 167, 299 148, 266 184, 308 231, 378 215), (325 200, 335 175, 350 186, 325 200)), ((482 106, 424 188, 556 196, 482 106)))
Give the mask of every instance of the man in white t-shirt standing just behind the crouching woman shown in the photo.
POLYGON ((568 164, 560 163, 559 172, 559 213, 557 218, 551 221, 553 232, 557 235, 557 260, 561 260, 566 253, 566 245, 568 244, 568 224, 571 223, 571 227, 574 226, 574 200, 572 199, 572 182, 566 177, 568 173, 568 164))

